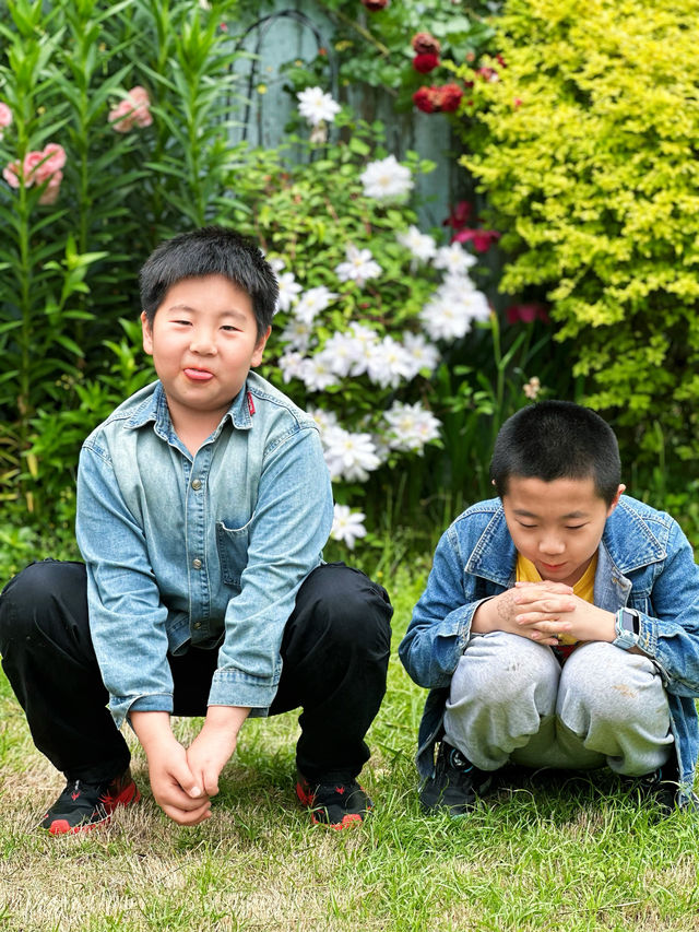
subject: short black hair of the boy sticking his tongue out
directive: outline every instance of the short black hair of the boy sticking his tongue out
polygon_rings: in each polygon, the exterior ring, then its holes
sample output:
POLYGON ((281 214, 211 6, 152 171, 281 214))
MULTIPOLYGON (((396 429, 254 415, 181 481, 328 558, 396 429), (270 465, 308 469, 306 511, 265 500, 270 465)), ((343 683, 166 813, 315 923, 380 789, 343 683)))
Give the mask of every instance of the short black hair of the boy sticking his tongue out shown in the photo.
POLYGON ((223 275, 252 302, 258 338, 272 322, 280 288, 258 245, 224 226, 203 226, 161 243, 141 269, 141 308, 153 326, 168 288, 185 279, 223 275))

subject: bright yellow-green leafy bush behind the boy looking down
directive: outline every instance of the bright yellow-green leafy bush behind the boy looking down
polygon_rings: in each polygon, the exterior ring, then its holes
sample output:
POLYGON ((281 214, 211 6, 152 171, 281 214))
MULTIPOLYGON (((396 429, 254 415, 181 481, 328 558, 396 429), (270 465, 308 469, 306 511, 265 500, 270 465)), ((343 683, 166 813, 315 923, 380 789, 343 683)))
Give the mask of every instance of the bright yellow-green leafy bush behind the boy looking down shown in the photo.
POLYGON ((463 162, 640 455, 699 453, 699 2, 508 0, 463 162), (505 67, 502 67, 505 66, 505 67), (653 429, 648 429, 649 426, 653 429), (662 430, 657 429, 657 426, 662 430), (626 429, 628 428, 628 430, 626 429))

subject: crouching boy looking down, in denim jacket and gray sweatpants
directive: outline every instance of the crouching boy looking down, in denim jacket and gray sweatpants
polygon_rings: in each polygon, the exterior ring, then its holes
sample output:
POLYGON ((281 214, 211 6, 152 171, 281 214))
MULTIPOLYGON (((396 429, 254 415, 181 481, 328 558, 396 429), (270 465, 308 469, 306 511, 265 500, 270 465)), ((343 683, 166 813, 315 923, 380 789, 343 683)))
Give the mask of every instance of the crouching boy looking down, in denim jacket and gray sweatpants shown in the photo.
POLYGON ((431 691, 424 807, 466 813, 508 763, 694 804, 699 567, 677 522, 623 495, 614 433, 577 404, 510 417, 490 474, 499 497, 446 531, 399 648, 431 691))

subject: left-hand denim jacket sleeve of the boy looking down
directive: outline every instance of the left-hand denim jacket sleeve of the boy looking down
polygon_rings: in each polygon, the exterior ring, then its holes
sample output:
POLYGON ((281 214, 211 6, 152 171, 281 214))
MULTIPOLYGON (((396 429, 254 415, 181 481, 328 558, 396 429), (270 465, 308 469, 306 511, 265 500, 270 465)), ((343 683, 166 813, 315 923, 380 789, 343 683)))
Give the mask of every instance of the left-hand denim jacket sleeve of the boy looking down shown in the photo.
POLYGON ((473 579, 464 573, 464 563, 452 526, 437 545, 427 587, 399 646, 403 666, 419 686, 449 686, 469 642, 473 615, 485 601, 475 598, 473 579))

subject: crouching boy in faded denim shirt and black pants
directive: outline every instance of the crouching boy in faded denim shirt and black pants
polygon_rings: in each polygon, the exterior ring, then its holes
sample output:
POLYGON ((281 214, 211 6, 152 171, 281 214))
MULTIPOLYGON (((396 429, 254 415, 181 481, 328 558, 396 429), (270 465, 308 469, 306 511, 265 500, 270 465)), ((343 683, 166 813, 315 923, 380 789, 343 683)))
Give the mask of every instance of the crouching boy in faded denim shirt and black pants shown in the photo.
POLYGON ((83 446, 84 565, 33 564, 0 598, 2 665, 67 778, 42 823, 52 834, 138 799, 125 720, 179 824, 211 815, 248 716, 297 707, 296 792, 313 822, 343 828, 370 809, 356 778, 392 609, 364 574, 322 563, 332 496, 315 422, 250 371, 277 294, 258 247, 230 231, 155 250, 141 319, 158 380, 83 446), (204 716, 188 747, 173 713, 204 716))

